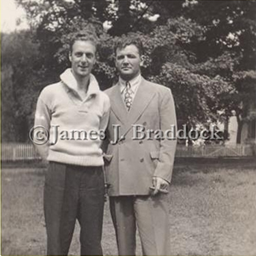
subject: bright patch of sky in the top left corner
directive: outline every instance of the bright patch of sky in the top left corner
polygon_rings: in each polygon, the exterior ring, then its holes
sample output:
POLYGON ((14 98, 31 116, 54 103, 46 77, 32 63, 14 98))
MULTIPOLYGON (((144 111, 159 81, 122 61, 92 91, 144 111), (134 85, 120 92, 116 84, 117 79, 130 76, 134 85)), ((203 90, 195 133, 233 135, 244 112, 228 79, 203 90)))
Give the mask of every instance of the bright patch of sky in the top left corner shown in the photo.
POLYGON ((15 30, 26 29, 27 23, 25 21, 25 11, 16 6, 14 0, 0 0, 1 1, 1 32, 12 32, 15 30), (20 25, 16 21, 21 19, 20 25))

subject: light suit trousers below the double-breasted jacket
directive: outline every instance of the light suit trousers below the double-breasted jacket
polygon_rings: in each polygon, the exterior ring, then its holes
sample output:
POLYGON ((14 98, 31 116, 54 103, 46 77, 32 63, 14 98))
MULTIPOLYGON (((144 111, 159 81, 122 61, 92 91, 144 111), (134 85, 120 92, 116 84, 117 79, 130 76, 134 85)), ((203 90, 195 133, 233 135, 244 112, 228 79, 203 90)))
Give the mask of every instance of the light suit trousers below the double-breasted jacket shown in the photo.
POLYGON ((168 195, 110 197, 119 255, 135 255, 136 229, 143 255, 170 255, 168 195))

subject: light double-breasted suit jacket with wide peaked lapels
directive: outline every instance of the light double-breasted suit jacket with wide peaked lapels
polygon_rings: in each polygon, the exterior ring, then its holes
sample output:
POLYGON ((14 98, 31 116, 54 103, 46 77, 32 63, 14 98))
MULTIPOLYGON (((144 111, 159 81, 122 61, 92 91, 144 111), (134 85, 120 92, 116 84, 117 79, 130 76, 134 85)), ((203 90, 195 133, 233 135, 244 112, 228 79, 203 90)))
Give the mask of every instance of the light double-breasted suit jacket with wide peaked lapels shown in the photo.
POLYGON ((176 127, 171 90, 142 79, 130 111, 124 105, 118 83, 105 92, 111 101, 106 129, 109 143, 104 156, 109 195, 149 195, 154 176, 171 182, 176 140, 170 139, 171 132, 169 139, 159 139, 160 131, 176 127), (142 129, 143 132, 136 132, 142 129), (147 130, 153 131, 151 137, 147 130))

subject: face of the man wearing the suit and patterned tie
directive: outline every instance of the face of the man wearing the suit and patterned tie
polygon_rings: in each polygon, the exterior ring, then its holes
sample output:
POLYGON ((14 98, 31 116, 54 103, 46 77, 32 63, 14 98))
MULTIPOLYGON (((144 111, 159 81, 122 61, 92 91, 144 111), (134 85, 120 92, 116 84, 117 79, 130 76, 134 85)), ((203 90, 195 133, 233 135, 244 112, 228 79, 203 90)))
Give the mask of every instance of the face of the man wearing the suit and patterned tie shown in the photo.
POLYGON ((115 66, 122 79, 128 81, 137 76, 141 72, 142 62, 139 49, 134 44, 117 48, 115 66))

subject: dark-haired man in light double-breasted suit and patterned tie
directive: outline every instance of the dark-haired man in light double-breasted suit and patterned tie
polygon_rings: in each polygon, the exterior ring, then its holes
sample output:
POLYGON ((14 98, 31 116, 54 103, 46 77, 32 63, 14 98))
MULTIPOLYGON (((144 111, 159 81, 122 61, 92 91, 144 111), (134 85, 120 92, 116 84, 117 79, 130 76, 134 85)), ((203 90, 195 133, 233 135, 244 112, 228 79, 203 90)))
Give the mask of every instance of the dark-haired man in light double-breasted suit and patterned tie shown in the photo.
POLYGON ((121 38, 115 46, 119 81, 105 91, 111 100, 106 183, 119 255, 135 255, 136 227, 143 255, 170 255, 175 106, 169 88, 143 79, 142 64, 141 40, 121 38))

